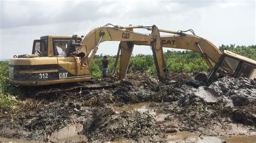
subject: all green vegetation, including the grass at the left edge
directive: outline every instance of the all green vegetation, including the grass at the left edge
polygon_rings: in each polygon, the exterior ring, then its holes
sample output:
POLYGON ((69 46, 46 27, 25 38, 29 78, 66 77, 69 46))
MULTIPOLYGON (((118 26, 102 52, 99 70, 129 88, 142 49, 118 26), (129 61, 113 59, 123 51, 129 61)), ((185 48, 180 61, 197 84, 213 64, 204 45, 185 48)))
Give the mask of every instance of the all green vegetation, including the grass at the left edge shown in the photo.
MULTIPOLYGON (((256 60, 256 45, 252 46, 235 46, 235 45, 221 45, 220 51, 225 49, 234 53, 247 56, 248 58, 256 60)), ((166 68, 173 72, 185 72, 190 73, 196 70, 206 71, 208 66, 206 65, 201 55, 192 51, 167 51, 165 52, 166 68)), ((109 59, 109 73, 113 73, 114 60, 116 56, 108 56, 109 59)), ((91 73, 94 77, 101 76, 103 55, 96 55, 91 65, 91 73)), ((22 96, 23 92, 8 83, 8 61, 0 62, 0 112, 3 109, 14 109, 18 104, 18 98, 22 96)), ((117 69, 119 69, 119 63, 117 69)), ((128 73, 134 73, 136 71, 142 71, 147 75, 156 75, 156 68, 154 66, 154 60, 152 55, 135 55, 132 56, 128 73)))

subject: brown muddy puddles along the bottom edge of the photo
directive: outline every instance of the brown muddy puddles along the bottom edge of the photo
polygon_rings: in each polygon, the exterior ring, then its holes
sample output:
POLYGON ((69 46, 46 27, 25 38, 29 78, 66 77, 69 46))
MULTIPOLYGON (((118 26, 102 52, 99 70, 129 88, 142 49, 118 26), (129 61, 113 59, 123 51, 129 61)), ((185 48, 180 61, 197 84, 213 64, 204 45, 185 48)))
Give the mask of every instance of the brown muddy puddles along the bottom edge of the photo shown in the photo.
MULTIPOLYGON (((87 142, 87 138, 85 135, 76 134, 77 132, 73 130, 73 127, 76 126, 68 126, 63 128, 62 130, 55 132, 52 134, 52 137, 50 141, 56 142, 56 141, 71 141, 71 142, 87 142), (63 134, 62 134, 63 133, 63 134), (70 134, 67 134, 70 133, 70 134), (57 136, 56 136, 57 135, 57 136), (66 137, 65 137, 66 135, 66 137), (56 138, 58 137, 58 139, 56 138)), ((225 136, 217 136, 217 137, 211 137, 211 136, 204 136, 200 132, 197 133, 191 133, 191 132, 177 132, 177 133, 166 133, 163 137, 154 137, 153 140, 149 140, 146 138, 140 138, 137 141, 127 138, 119 138, 114 141, 105 141, 105 142, 147 142, 147 141, 153 141, 153 142, 179 142, 179 143, 185 143, 185 142, 214 142, 214 143, 222 143, 222 142, 248 142, 253 143, 256 140, 256 135, 237 135, 234 137, 225 137, 225 136)), ((22 139, 8 139, 8 138, 0 138, 1 142, 39 142, 35 140, 22 140, 22 139)), ((98 142, 98 141, 92 141, 92 142, 98 142)))

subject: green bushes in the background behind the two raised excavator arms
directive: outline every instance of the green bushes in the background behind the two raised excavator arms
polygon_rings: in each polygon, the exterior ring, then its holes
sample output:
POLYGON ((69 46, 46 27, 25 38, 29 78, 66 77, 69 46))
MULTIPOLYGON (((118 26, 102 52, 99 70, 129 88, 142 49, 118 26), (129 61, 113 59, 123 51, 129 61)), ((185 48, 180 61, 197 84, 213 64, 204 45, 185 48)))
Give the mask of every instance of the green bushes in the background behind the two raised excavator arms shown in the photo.
MULTIPOLYGON (((228 50, 248 58, 256 60, 256 45, 252 46, 236 46, 235 45, 221 45, 220 51, 228 50)), ((207 71, 208 66, 204 59, 197 52, 193 51, 167 51, 164 53, 166 68, 173 72, 191 73, 193 71, 207 71)), ((113 72, 114 59, 116 56, 108 56, 110 61, 109 73, 113 72)), ((103 55, 96 55, 91 65, 91 73, 94 77, 101 75, 101 61, 103 55)), ((117 64, 119 69, 119 63, 117 64)), ((117 70, 116 70, 117 71, 117 70)), ((147 75, 156 75, 156 67, 154 66, 154 59, 152 55, 136 55, 132 56, 130 66, 127 73, 134 73, 135 71, 142 71, 147 75)))

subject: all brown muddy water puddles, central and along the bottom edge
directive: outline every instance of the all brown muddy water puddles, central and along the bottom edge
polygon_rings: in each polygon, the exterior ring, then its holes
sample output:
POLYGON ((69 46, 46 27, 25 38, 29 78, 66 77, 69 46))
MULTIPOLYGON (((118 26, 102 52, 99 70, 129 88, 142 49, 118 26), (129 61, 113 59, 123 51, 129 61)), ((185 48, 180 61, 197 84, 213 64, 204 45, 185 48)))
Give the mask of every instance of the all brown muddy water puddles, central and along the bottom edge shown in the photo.
MULTIPOLYGON (((118 106, 109 106, 110 108, 114 109, 116 113, 120 113, 122 111, 132 111, 136 110, 141 113, 150 114, 156 121, 164 121, 169 114, 161 113, 159 108, 151 108, 150 105, 152 103, 138 103, 138 104, 131 104, 124 107, 118 106)), ((65 126, 64 128, 60 129, 59 131, 53 132, 51 135, 48 135, 47 141, 76 141, 76 142, 87 142, 87 138, 85 135, 79 134, 79 132, 83 131, 82 124, 72 124, 65 126)), ((3 142, 39 142, 39 141, 27 141, 21 139, 7 139, 7 138, 0 138, 0 141, 3 142)), ((154 140, 149 140, 147 138, 139 138, 139 142, 148 142, 148 141, 164 141, 164 142, 255 142, 256 135, 238 135, 234 137, 210 137, 204 136, 200 132, 191 133, 191 132, 177 132, 177 133, 166 133, 157 137, 154 140)), ((120 138, 114 140, 113 142, 136 142, 131 139, 127 138, 120 138)))

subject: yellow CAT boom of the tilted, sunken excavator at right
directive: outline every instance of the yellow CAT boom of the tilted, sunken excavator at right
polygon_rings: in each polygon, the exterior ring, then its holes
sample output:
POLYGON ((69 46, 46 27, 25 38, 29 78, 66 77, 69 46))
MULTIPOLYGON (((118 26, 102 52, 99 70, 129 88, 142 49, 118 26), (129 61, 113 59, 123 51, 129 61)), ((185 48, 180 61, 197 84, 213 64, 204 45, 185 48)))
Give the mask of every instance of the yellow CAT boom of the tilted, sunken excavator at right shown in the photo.
MULTIPOLYGON (((152 30, 151 27, 148 27, 147 30, 152 30)), ((160 41, 161 45, 166 48, 177 48, 177 49, 188 49, 194 52, 201 53, 206 64, 210 69, 213 69, 214 63, 217 63, 221 52, 219 49, 212 44, 212 42, 198 37, 197 35, 185 34, 182 32, 175 32, 169 30, 159 29, 160 32, 171 33, 174 35, 161 36, 160 41)), ((135 45, 150 45, 147 42, 134 42, 135 45)), ((227 61, 223 63, 223 69, 226 71, 232 72, 232 66, 227 61)))

